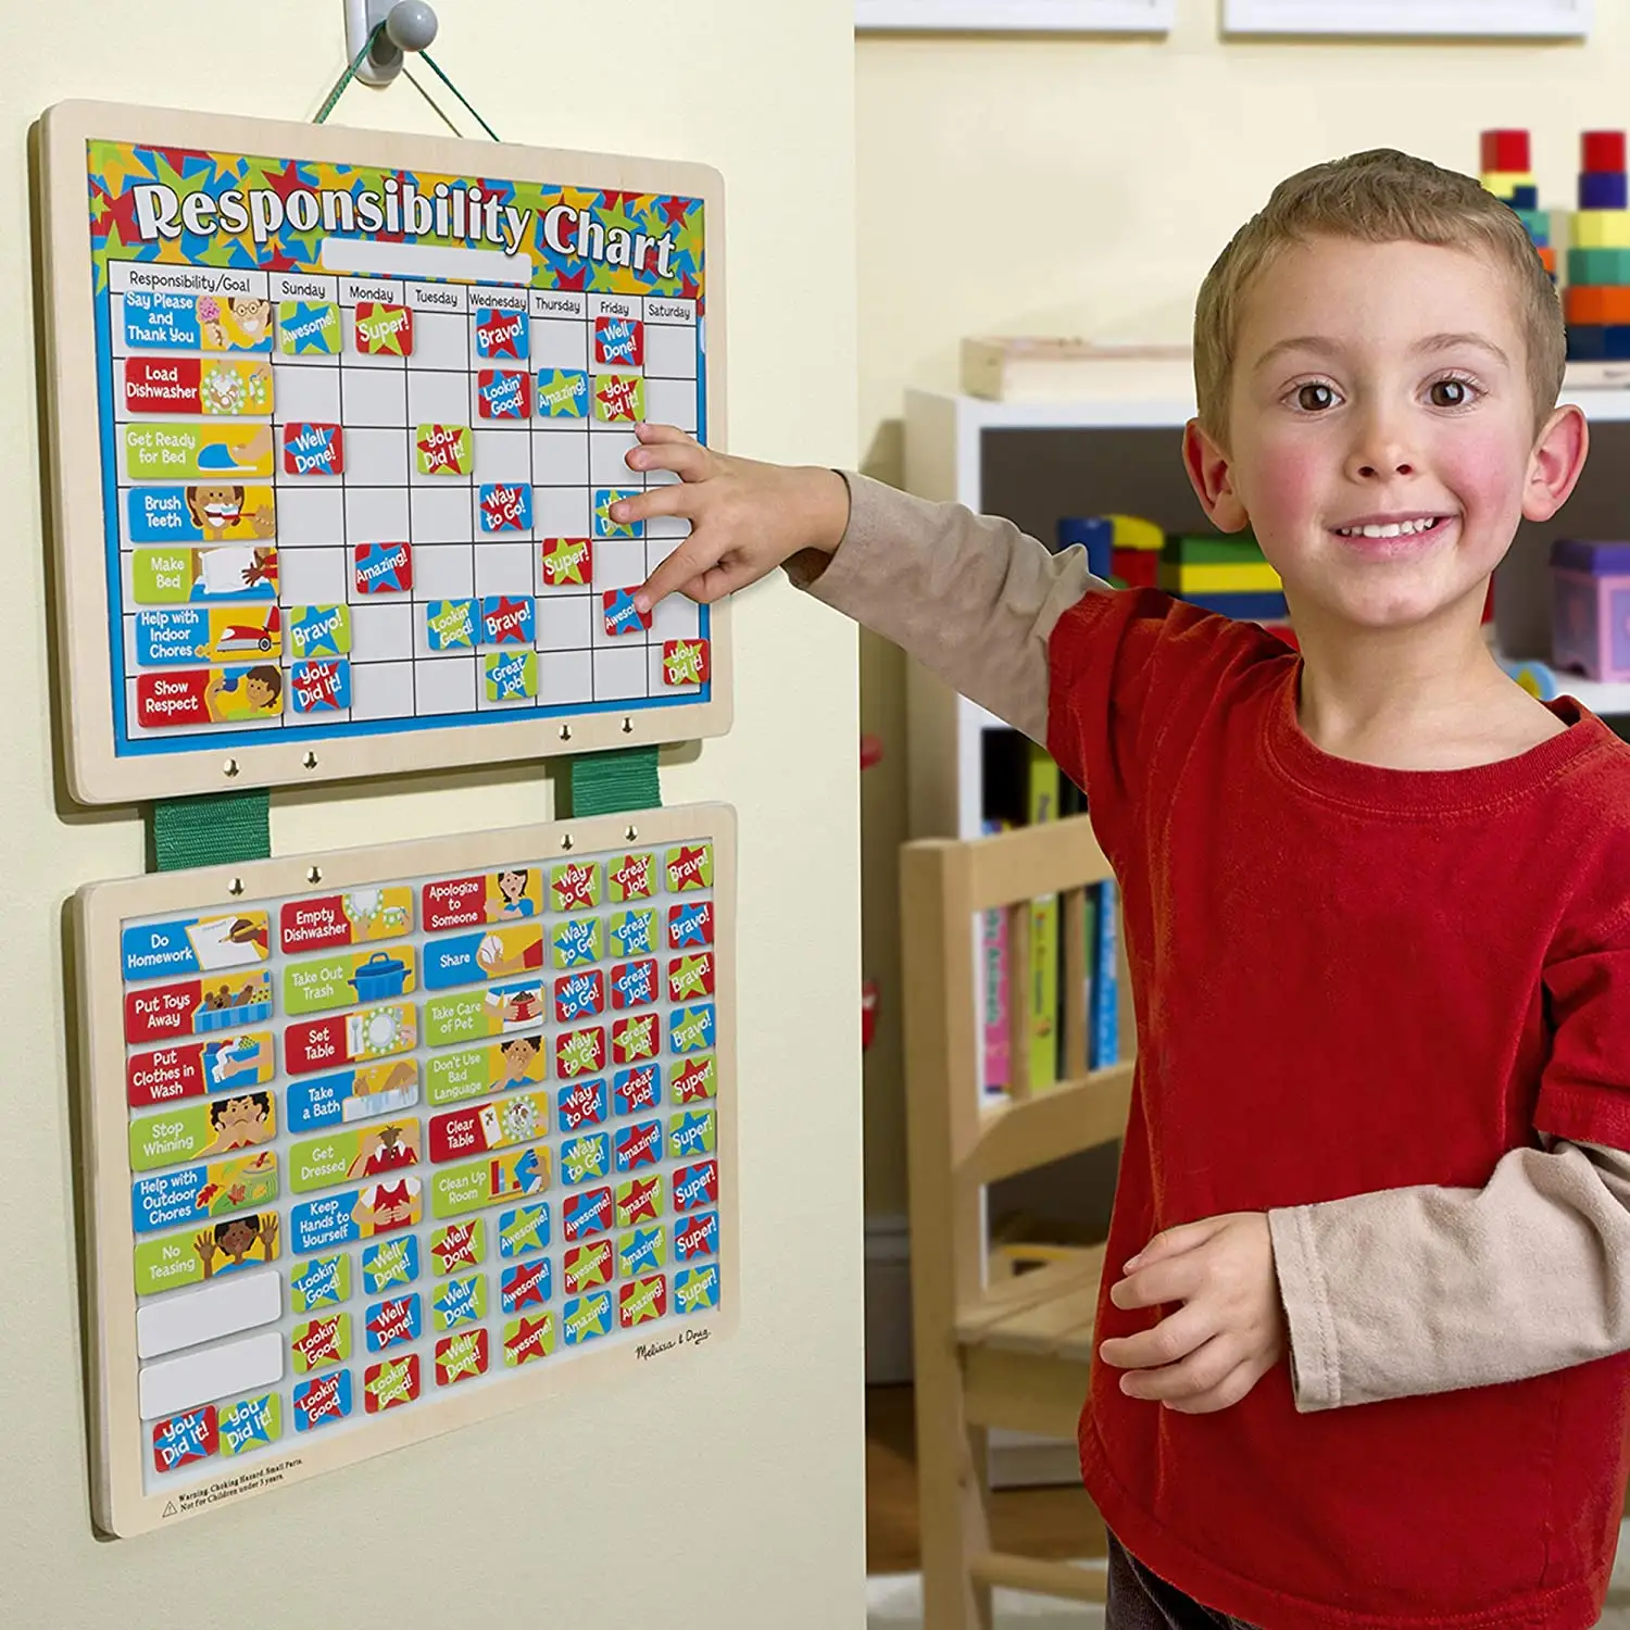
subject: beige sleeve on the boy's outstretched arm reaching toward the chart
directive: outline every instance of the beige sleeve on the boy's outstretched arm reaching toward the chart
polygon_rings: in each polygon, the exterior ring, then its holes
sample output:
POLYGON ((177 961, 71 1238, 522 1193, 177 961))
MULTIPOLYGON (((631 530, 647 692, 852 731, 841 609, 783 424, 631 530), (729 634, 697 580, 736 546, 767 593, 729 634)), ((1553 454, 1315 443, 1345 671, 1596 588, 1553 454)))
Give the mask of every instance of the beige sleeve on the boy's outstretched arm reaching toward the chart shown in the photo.
POLYGON ((1089 590, 1084 549, 1053 554, 1012 522, 931 504, 844 474, 849 530, 828 561, 787 575, 844 616, 892 639, 952 689, 1046 745, 1046 642, 1089 590))

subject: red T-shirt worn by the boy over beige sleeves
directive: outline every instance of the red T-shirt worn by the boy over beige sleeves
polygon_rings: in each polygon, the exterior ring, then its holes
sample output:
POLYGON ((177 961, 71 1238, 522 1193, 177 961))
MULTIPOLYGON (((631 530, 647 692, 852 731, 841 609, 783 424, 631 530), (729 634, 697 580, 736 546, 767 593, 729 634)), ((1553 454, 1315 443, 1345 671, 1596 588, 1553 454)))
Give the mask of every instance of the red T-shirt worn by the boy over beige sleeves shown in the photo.
MULTIPOLYGON (((1050 641, 1048 747, 1121 882, 1138 1071, 1108 1260, 1161 1229, 1480 1187, 1539 1134, 1630 1146, 1630 748, 1571 703, 1518 758, 1322 753, 1299 659, 1149 592, 1050 641)), ((1387 1263, 1372 1265, 1376 1275, 1387 1263)), ((1156 1312, 1107 1296, 1099 1338, 1156 1312)), ((1087 1487, 1157 1575, 1268 1630, 1584 1630, 1625 1487, 1625 1356, 1297 1413, 1284 1368, 1182 1415, 1094 1366, 1087 1487)))

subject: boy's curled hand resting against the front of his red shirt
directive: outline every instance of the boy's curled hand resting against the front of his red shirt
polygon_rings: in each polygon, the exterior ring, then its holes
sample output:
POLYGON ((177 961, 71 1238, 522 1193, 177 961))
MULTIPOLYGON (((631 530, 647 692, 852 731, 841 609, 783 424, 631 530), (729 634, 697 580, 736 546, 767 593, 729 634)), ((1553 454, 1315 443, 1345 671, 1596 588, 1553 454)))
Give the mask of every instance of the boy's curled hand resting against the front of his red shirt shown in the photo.
POLYGON ((1121 1392, 1185 1415, 1239 1403, 1284 1356, 1273 1237, 1262 1211, 1156 1234, 1110 1288, 1117 1307, 1180 1304, 1159 1324, 1099 1346, 1121 1392))

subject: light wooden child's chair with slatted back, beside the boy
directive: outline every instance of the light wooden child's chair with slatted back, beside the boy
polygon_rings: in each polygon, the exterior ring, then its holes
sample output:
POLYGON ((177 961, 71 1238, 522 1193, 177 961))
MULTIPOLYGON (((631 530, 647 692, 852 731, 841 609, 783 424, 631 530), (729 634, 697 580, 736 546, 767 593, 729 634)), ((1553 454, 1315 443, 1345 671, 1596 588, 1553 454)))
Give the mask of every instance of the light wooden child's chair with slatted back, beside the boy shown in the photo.
MULTIPOLYGON (((1009 1002, 1015 1079, 1006 1100, 981 1102, 976 924, 991 908, 1009 911, 1011 989, 1024 991, 1030 901, 1060 895, 1064 989, 1082 991, 1082 890, 1107 877, 1086 817, 971 843, 911 843, 901 854, 924 1630, 989 1630, 998 1584, 1104 1601, 1102 1570, 993 1548, 985 1474, 993 1426, 1074 1438, 1104 1247, 1040 1252, 1040 1265, 1027 1271, 993 1270, 985 1190, 1121 1136, 1131 1092, 1130 980, 1123 957, 1123 1061, 1035 1094, 1029 1035, 1020 1037, 1027 1006, 1009 1002)), ((1064 1056, 1084 1060, 1084 1002, 1066 1012, 1064 1056)))

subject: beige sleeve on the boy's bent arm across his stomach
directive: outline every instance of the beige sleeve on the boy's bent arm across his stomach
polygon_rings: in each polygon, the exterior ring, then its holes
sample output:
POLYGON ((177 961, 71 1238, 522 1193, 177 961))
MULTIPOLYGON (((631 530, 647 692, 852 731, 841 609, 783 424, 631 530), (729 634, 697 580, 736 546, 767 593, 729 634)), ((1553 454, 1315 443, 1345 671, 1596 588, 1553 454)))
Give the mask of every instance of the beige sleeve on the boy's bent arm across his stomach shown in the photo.
POLYGON ((1299 1410, 1526 1381, 1630 1350, 1630 1154, 1513 1149, 1483 1188, 1268 1213, 1299 1410))

